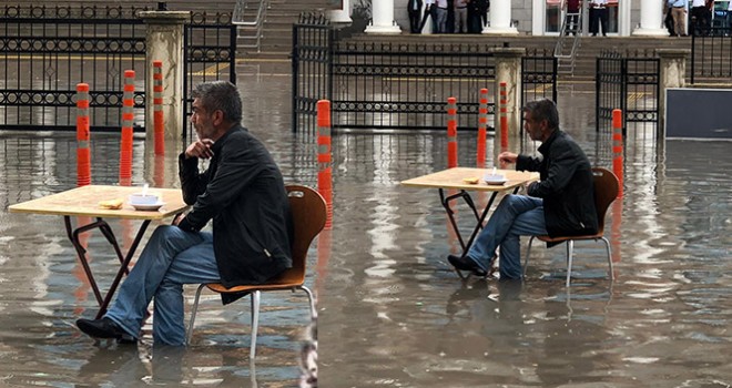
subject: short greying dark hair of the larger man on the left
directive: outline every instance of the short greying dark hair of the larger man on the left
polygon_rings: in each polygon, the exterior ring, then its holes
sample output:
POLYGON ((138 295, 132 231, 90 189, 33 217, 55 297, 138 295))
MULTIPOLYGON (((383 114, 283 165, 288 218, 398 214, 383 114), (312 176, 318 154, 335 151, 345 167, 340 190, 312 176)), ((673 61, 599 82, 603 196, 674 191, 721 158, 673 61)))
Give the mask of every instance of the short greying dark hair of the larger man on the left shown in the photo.
POLYGON ((228 81, 200 83, 191 96, 199 99, 201 106, 209 112, 222 111, 227 122, 238 124, 242 121, 242 95, 236 85, 228 81))

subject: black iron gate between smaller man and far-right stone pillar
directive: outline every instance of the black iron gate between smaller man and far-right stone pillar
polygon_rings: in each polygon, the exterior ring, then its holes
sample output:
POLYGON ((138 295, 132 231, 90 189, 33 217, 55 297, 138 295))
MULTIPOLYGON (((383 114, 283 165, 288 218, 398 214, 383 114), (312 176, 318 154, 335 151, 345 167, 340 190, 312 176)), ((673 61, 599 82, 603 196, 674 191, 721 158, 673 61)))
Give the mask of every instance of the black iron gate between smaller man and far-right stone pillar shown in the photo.
POLYGON ((620 109, 622 133, 628 123, 654 125, 658 132, 660 61, 650 52, 602 52, 597 58, 596 130, 611 132, 612 111, 620 109))

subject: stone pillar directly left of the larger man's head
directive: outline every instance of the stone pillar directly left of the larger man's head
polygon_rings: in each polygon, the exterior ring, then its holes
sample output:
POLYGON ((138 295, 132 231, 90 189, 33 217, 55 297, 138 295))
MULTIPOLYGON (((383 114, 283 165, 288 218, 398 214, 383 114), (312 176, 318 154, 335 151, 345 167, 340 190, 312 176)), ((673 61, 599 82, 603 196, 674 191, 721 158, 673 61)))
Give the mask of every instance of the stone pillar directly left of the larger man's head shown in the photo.
POLYGON ((152 61, 163 61, 163 115, 165 137, 183 139, 183 27, 191 19, 187 11, 144 11, 140 17, 148 25, 145 35, 145 134, 151 144, 153 136, 153 71, 152 61))

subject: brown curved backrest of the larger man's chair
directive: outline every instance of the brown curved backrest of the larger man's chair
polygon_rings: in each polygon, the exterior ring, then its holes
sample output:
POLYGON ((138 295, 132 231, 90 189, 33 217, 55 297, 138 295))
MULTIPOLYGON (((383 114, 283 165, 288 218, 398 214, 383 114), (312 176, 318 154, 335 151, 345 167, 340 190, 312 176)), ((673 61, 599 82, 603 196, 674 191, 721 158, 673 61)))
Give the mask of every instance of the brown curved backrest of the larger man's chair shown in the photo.
POLYGON ((289 197, 289 212, 293 217, 294 236, 292 242, 293 272, 304 278, 307 249, 325 226, 327 210, 325 200, 315 190, 303 185, 286 185, 289 197))

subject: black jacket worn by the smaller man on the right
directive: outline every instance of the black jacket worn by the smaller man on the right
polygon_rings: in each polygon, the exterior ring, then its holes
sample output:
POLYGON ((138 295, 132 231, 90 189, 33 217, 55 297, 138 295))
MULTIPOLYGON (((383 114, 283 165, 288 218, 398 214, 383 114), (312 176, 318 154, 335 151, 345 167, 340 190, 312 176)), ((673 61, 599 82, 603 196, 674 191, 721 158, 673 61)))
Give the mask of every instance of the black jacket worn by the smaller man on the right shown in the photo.
POLYGON ((557 130, 541 146, 543 157, 519 155, 516 170, 539 172, 540 181, 528 194, 543 198, 549 236, 577 236, 598 232, 594 184, 590 161, 563 131, 557 130))

